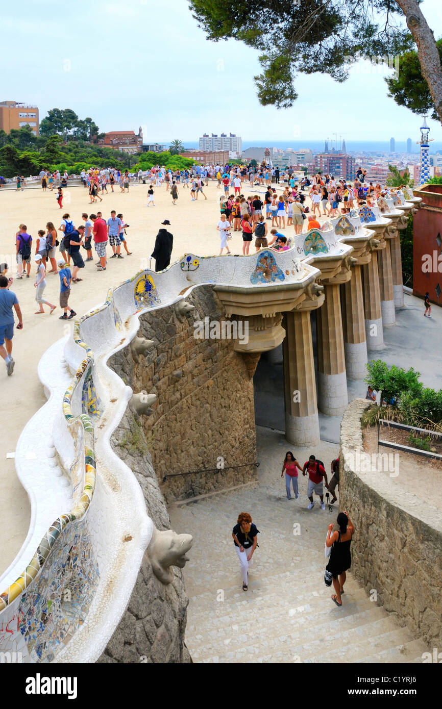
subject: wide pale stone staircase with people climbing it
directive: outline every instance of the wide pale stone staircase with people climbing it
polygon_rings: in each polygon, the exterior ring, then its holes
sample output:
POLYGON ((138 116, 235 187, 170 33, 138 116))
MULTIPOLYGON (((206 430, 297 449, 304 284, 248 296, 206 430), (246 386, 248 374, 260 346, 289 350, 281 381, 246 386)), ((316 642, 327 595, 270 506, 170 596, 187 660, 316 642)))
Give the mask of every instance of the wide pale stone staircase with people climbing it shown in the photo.
POLYGON ((280 488, 261 484, 170 508, 172 527, 194 536, 184 569, 193 661, 421 662, 426 645, 370 601, 351 574, 342 608, 331 601, 323 549, 338 509, 307 510, 305 481, 298 500, 286 500, 281 481, 280 488), (242 511, 260 530, 247 593, 231 538, 242 511))

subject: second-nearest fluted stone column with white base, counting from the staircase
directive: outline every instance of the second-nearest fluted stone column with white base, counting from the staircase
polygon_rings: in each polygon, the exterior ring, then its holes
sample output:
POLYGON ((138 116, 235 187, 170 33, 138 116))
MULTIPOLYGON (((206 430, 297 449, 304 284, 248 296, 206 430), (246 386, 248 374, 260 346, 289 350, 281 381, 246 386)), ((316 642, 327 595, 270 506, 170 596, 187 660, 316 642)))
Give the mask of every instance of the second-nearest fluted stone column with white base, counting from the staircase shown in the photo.
POLYGON ((316 313, 318 328, 318 406, 328 416, 340 416, 347 404, 346 358, 338 282, 323 281, 324 305, 316 313))

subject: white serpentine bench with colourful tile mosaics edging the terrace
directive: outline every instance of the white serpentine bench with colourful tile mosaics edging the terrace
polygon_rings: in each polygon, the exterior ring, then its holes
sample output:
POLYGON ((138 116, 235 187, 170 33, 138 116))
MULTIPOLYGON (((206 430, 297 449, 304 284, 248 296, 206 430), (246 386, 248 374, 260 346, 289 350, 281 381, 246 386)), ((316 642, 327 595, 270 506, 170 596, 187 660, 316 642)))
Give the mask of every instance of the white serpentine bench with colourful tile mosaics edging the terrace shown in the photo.
MULTIPOLYGON (((358 217, 349 221, 355 231, 365 228, 358 217)), ((109 442, 133 391, 106 363, 136 337, 140 313, 178 303, 203 284, 258 292, 311 282, 320 274, 314 257, 347 251, 331 228, 298 235, 286 252, 184 255, 164 272, 139 272, 110 289, 75 323, 73 336, 45 352, 38 376, 48 401, 16 447, 31 523, 0 579, 1 652, 31 663, 96 661, 126 609, 145 549, 153 539, 158 546, 140 486, 109 442), (268 274, 259 266, 265 253, 268 274), (52 440, 41 435, 51 425, 52 440)))

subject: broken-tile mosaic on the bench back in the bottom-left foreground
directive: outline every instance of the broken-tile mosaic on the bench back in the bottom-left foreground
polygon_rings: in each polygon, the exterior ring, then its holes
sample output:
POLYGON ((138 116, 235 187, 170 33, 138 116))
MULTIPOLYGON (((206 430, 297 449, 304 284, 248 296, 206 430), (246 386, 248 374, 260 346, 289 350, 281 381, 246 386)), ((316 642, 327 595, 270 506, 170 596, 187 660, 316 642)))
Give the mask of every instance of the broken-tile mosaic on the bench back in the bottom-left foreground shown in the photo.
POLYGON ((86 523, 74 523, 18 607, 18 630, 35 662, 50 662, 87 616, 99 581, 86 523))

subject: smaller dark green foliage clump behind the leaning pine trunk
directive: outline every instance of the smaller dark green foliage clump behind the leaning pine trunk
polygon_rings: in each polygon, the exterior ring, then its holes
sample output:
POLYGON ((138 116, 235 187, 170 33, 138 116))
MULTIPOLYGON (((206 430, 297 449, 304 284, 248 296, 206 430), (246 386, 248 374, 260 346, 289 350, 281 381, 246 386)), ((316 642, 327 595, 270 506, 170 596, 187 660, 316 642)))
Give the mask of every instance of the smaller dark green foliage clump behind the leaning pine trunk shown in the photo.
MULTIPOLYGON (((436 42, 442 60, 442 40, 436 42)), ((435 121, 441 120, 431 98, 429 85, 422 74, 418 53, 415 50, 405 52, 399 58, 399 72, 385 79, 388 95, 398 106, 406 106, 419 116, 429 114, 435 121)))

